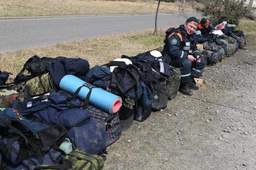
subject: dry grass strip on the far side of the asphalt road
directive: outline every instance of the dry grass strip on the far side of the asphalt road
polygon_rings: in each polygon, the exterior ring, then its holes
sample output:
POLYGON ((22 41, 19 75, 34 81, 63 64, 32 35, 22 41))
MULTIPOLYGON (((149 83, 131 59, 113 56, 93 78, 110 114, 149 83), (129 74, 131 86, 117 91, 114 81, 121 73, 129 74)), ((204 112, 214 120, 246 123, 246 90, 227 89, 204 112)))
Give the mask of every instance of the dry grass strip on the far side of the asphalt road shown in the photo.
MULTIPOLYGON (((0 16, 155 13, 156 7, 157 1, 0 0, 0 16)), ((192 9, 187 8, 186 11, 192 9)), ((160 4, 160 13, 174 12, 178 12, 177 4, 160 4)))

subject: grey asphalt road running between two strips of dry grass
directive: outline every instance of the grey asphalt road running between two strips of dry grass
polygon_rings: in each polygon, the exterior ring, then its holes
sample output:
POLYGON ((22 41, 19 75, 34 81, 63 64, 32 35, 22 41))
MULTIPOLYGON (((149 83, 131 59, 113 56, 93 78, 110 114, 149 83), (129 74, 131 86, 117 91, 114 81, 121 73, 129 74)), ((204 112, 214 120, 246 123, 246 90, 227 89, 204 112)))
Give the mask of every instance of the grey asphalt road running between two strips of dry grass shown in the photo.
MULTIPOLYGON (((158 27, 184 23, 187 16, 200 14, 159 14, 158 27)), ((0 52, 154 28, 154 14, 38 17, 0 20, 0 52)))

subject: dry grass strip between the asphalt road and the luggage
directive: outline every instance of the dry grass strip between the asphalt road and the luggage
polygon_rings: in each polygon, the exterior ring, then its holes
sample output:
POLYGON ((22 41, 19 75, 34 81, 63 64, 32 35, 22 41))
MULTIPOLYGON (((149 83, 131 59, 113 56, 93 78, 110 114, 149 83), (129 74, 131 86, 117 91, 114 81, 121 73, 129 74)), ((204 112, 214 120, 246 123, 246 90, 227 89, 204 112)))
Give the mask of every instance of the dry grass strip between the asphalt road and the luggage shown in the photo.
POLYGON ((153 36, 153 29, 148 29, 126 35, 106 35, 91 40, 3 53, 0 54, 0 68, 1 71, 8 71, 16 75, 26 60, 34 54, 40 57, 81 57, 87 59, 91 67, 102 65, 121 57, 122 54, 132 56, 163 46, 164 32, 163 29, 160 29, 159 35, 153 36))

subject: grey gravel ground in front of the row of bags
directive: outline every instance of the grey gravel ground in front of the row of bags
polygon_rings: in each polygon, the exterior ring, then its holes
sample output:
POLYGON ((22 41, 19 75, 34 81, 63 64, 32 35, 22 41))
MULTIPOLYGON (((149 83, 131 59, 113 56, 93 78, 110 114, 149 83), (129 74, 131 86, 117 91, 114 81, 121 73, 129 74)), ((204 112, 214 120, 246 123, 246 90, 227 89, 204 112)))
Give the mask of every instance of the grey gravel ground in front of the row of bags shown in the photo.
POLYGON ((207 89, 134 122, 108 148, 105 169, 256 169, 255 38, 207 66, 207 89))

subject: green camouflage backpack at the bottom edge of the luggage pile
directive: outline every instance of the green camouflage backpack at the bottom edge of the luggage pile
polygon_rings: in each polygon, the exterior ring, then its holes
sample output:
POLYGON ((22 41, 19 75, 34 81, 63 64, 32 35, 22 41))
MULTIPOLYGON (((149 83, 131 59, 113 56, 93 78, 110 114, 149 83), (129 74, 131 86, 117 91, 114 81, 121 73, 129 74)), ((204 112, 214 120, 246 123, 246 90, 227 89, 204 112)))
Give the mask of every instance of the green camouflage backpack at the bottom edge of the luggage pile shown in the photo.
POLYGON ((79 148, 75 148, 59 164, 43 165, 35 168, 38 169, 81 169, 81 170, 101 170, 103 169, 104 160, 97 154, 87 154, 79 148))

